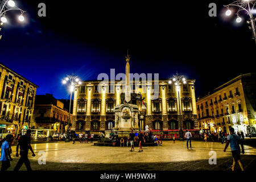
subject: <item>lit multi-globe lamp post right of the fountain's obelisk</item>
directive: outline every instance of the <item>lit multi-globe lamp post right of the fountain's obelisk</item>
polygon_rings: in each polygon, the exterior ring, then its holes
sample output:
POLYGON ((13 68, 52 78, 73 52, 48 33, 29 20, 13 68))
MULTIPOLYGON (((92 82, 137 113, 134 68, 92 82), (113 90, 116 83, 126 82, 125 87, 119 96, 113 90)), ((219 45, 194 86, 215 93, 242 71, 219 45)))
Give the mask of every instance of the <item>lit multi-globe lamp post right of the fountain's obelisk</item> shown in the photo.
POLYGON ((168 81, 168 84, 172 84, 172 81, 174 82, 174 85, 176 86, 177 89, 177 96, 178 96, 178 102, 179 102, 179 137, 180 140, 183 140, 183 122, 182 122, 182 116, 181 116, 181 106, 180 106, 180 83, 183 82, 183 84, 186 84, 186 79, 184 78, 183 75, 179 75, 176 73, 176 75, 172 76, 170 80, 168 81))

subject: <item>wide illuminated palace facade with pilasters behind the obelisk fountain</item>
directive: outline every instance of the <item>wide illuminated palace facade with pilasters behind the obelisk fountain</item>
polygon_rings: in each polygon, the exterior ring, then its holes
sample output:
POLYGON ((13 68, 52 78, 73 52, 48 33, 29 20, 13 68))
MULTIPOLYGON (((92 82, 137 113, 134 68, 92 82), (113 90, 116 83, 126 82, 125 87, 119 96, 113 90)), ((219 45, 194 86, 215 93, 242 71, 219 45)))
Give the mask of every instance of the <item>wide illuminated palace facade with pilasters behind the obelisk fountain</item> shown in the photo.
MULTIPOLYGON (((197 127, 195 80, 187 80, 186 84, 179 85, 180 97, 177 95, 177 86, 174 83, 168 84, 168 81, 169 79, 160 79, 157 86, 154 86, 154 80, 151 85, 142 82, 130 84, 133 91, 131 104, 139 107, 139 129, 145 130, 146 125, 151 130, 159 131, 197 127), (155 92, 159 92, 158 98, 153 98, 154 87, 158 87, 155 89, 155 92), (183 121, 182 126, 180 126, 179 114, 183 121)), ((115 81, 114 84, 108 82, 105 86, 100 86, 100 82, 99 80, 82 81, 81 85, 75 87, 72 130, 98 134, 99 131, 109 131, 115 127, 114 108, 123 104, 124 100, 122 85, 118 84, 119 81, 115 81), (100 93, 98 86, 101 89, 100 93)))

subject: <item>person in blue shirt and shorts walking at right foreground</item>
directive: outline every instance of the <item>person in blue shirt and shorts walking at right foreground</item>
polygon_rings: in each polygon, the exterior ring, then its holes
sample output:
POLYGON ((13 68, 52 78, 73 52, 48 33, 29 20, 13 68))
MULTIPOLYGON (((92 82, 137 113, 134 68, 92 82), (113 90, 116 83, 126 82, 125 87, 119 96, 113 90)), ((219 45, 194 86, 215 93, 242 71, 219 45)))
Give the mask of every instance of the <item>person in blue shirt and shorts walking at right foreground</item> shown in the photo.
POLYGON ((238 137, 238 135, 236 135, 236 133, 234 132, 233 127, 230 127, 229 132, 230 132, 230 135, 228 136, 228 140, 226 142, 224 152, 226 152, 226 148, 228 148, 228 146, 230 144, 230 150, 231 150, 232 156, 233 156, 233 165, 230 168, 232 169, 232 171, 234 171, 234 168, 236 167, 236 164, 238 163, 240 168, 242 169, 242 171, 245 171, 245 169, 243 169, 243 164, 240 159, 240 153, 241 153, 240 145, 242 148, 242 154, 245 154, 245 151, 243 150, 243 144, 242 144, 240 138, 238 137))

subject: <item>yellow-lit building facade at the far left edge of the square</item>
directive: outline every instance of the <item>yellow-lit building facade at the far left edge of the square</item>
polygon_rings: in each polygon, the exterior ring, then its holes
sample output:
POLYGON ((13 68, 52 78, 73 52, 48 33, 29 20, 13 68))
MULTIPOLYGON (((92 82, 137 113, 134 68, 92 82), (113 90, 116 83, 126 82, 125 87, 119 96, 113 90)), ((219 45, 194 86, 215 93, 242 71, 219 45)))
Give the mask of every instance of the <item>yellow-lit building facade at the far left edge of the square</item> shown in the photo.
POLYGON ((37 85, 0 64, 0 133, 24 133, 30 128, 37 85))

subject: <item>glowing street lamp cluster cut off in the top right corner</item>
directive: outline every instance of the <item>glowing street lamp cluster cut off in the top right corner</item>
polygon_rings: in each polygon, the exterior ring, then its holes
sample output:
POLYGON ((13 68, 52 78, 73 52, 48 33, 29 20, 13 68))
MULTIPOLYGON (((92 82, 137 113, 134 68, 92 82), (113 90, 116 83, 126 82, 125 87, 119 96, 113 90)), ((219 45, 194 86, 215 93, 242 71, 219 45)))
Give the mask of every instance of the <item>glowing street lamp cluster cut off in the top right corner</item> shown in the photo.
POLYGON ((256 5, 256 0, 238 0, 230 3, 229 5, 224 5, 224 7, 227 8, 226 10, 226 16, 230 16, 232 14, 232 11, 229 9, 230 6, 234 6, 237 8, 237 23, 242 22, 242 18, 240 17, 240 12, 245 11, 247 15, 250 17, 250 21, 247 21, 247 23, 251 24, 251 27, 249 26, 250 30, 253 31, 253 39, 255 40, 256 44, 256 27, 255 27, 255 18, 253 17, 253 13, 255 12, 254 6, 256 5))

